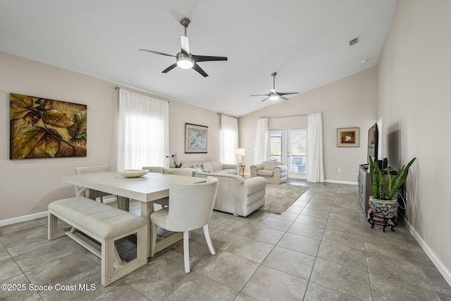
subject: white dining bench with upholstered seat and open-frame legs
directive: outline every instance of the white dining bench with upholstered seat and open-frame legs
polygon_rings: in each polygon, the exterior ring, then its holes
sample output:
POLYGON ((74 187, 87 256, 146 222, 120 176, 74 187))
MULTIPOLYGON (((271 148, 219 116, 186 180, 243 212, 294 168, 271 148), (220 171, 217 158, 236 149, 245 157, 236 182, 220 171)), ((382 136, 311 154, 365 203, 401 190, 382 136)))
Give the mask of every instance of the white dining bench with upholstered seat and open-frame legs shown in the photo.
POLYGON ((87 197, 58 199, 51 202, 48 209, 49 240, 67 235, 99 257, 102 285, 109 285, 147 264, 147 221, 143 217, 87 197), (58 219, 72 228, 58 230, 58 219), (114 241, 134 233, 137 235, 136 258, 123 262, 114 241))

